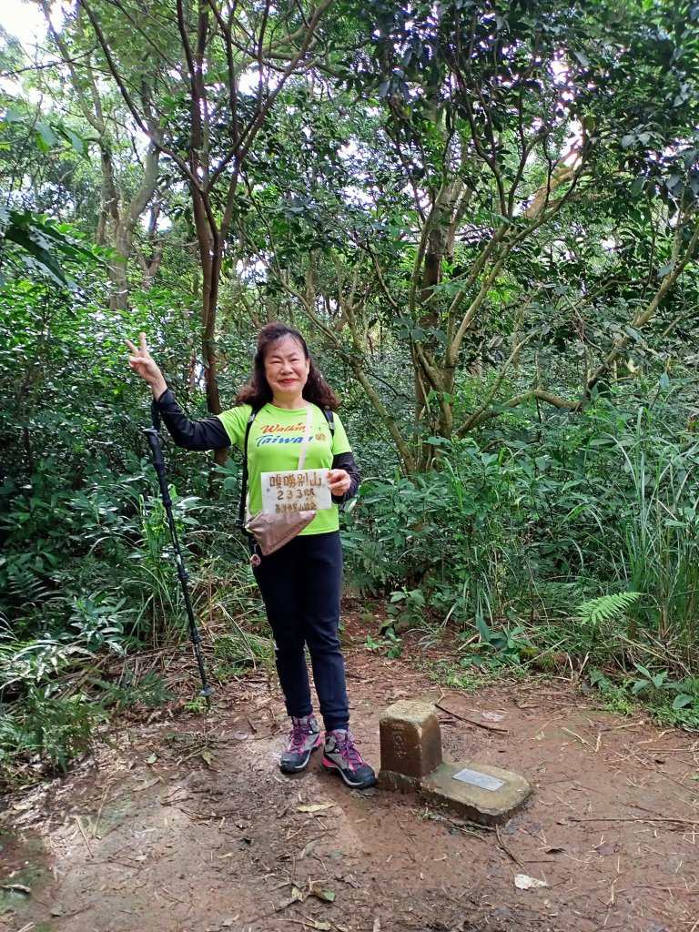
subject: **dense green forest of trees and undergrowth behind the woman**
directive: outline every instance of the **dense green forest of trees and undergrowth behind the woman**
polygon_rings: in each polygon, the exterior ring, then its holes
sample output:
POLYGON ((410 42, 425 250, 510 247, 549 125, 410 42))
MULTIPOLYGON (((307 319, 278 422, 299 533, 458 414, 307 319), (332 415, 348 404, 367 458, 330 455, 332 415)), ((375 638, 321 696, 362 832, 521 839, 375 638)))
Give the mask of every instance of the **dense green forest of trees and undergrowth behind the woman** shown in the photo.
MULTIPOLYGON (((0 741, 180 630, 124 338, 216 414, 280 319, 341 397, 348 582, 394 641, 651 664, 699 721, 699 2, 33 2, 35 55, 0 34, 0 741)), ((167 452, 231 617, 238 461, 167 452)))

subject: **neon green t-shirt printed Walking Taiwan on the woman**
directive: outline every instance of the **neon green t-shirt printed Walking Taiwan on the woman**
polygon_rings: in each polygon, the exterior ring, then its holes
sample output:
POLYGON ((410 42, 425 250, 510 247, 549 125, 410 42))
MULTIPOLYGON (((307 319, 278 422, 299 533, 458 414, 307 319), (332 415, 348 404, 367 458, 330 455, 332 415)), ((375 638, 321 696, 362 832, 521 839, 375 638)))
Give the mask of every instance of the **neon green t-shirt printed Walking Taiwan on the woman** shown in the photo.
MULTIPOLYGON (((217 417, 226 428, 231 444, 240 449, 252 411, 250 404, 239 404, 217 417)), ((287 410, 266 404, 257 412, 248 438, 248 486, 250 514, 262 510, 262 473, 298 469, 298 457, 306 432, 307 409, 287 410)), ((333 415, 335 436, 318 405, 313 405, 311 432, 304 469, 330 469, 336 453, 350 453, 351 447, 342 421, 333 415)), ((327 534, 337 530, 337 505, 318 512, 301 534, 327 534)))

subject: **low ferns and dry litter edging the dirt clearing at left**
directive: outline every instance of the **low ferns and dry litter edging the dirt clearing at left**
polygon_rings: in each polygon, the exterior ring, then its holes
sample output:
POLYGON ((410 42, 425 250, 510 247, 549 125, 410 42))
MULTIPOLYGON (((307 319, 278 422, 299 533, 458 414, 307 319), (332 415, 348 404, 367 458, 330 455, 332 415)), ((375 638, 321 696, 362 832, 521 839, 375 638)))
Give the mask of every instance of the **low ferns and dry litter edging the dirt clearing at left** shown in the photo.
MULTIPOLYGON (((209 682, 271 670, 273 645, 253 599, 212 604, 203 644, 209 682)), ((206 707, 191 646, 182 630, 147 649, 86 637, 0 640, 0 788, 65 773, 118 721, 142 721, 167 707, 173 716, 206 707)))

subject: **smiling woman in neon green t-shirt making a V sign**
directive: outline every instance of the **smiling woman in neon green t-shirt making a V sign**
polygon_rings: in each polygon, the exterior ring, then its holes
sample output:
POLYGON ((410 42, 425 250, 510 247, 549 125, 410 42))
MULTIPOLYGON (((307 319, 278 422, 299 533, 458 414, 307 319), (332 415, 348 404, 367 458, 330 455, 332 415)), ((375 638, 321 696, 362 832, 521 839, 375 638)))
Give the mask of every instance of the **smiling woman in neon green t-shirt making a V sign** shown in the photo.
POLYGON ((254 578, 274 636, 277 672, 292 722, 280 767, 285 774, 303 770, 311 752, 324 744, 323 767, 341 776, 348 787, 374 786, 376 775, 363 761, 349 731, 345 664, 337 637, 342 581, 337 504, 357 494, 360 475, 340 419, 333 416, 333 432, 322 410, 336 411, 335 392, 315 368, 303 336, 283 323, 269 323, 259 333, 253 376, 239 392, 235 406, 215 418, 191 421, 168 389, 145 335, 140 336, 140 347, 126 342, 130 367, 150 386, 178 446, 210 450, 234 444, 242 449, 248 420, 259 409, 250 427, 248 448, 243 450, 248 458, 251 514, 262 509, 261 473, 297 469, 299 446, 308 436, 306 468, 328 470, 332 507, 319 511, 281 549, 251 561, 258 562, 254 578), (325 726, 324 741, 311 706, 306 646, 325 726))

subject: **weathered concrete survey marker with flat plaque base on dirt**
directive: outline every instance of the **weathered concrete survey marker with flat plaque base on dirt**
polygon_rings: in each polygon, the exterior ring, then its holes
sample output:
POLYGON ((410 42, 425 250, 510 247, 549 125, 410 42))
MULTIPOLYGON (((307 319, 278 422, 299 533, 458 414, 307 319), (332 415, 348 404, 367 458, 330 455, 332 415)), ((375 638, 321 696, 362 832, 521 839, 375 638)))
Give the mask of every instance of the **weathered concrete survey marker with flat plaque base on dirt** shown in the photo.
POLYGON ((404 700, 389 706, 379 721, 379 784, 415 790, 484 825, 500 825, 527 802, 531 787, 520 774, 489 764, 445 763, 434 706, 404 700))

